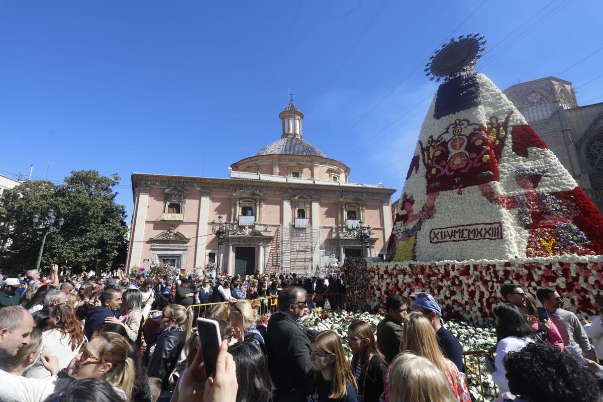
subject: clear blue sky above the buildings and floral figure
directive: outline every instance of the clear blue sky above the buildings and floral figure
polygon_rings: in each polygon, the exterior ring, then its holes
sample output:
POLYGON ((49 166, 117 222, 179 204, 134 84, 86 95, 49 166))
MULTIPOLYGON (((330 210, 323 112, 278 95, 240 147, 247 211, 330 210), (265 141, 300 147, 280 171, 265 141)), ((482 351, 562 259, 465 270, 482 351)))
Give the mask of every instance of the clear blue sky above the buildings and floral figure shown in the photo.
POLYGON ((487 37, 477 70, 501 89, 557 75, 584 105, 603 101, 601 14, 596 0, 2 1, 0 174, 116 172, 129 215, 131 172, 226 177, 279 138, 291 90, 305 139, 350 181, 401 189, 437 88, 421 61, 450 34, 487 37))

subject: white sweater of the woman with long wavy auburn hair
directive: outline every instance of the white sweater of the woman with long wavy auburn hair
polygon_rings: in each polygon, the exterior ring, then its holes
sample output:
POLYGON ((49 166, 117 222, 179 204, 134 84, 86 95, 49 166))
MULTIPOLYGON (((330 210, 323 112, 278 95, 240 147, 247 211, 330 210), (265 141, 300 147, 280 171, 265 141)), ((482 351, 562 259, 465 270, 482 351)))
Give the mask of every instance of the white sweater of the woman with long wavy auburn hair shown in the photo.
MULTIPOLYGON (((40 356, 52 354, 58 357, 58 369, 67 368, 71 360, 80 353, 80 345, 71 350, 71 336, 57 329, 46 330, 42 333, 42 351, 40 356), (64 338, 63 338, 64 336, 64 338)), ((36 363, 24 372, 28 378, 50 378, 50 372, 46 370, 37 359, 36 363)))

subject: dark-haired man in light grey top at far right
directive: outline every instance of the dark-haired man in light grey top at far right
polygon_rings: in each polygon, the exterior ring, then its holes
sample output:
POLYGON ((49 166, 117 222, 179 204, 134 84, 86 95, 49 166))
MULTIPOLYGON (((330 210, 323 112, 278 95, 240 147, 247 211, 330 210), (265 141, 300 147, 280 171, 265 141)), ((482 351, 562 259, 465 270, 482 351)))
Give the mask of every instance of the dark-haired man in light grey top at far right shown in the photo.
POLYGON ((558 292, 554 289, 541 288, 536 291, 536 297, 549 312, 549 318, 557 326, 563 344, 574 348, 576 352, 587 359, 594 360, 595 356, 593 356, 586 331, 584 331, 580 320, 574 313, 561 309, 563 298, 558 292))

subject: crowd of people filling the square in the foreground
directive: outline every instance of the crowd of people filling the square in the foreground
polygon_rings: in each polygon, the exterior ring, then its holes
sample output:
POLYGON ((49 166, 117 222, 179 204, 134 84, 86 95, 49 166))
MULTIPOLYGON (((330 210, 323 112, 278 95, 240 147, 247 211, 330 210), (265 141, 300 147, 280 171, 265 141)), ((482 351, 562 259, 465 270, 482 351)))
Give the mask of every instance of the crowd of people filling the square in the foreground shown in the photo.
MULTIPOLYGON (((426 292, 390 295, 376 331, 351 322, 350 361, 335 331, 299 321, 321 295, 345 292, 339 278, 60 277, 52 265, 48 276, 3 282, 0 402, 472 400, 463 347, 426 292), (277 303, 267 327, 257 323, 262 298, 277 303), (209 378, 194 330, 201 313, 222 341, 209 378)), ((498 401, 603 400, 603 300, 589 322, 563 309, 555 289, 534 298, 504 284, 497 298, 487 369, 498 401)))

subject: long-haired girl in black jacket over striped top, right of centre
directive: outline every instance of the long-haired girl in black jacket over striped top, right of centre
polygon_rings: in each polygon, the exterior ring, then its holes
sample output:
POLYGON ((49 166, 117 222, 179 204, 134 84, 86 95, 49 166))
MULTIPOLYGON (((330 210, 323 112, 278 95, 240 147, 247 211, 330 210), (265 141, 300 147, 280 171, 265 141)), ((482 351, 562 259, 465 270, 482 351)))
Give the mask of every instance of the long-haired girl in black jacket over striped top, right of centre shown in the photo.
POLYGON ((365 321, 353 322, 347 328, 347 339, 352 350, 352 372, 358 384, 358 402, 377 402, 383 394, 387 364, 373 328, 365 321))

